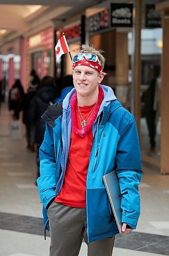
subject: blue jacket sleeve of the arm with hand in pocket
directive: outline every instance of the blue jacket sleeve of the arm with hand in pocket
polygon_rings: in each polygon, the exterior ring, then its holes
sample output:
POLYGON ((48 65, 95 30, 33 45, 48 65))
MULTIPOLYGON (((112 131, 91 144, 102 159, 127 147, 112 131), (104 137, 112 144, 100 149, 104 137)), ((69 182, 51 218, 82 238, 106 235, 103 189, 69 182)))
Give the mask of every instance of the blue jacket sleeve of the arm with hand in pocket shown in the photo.
POLYGON ((53 130, 46 123, 44 141, 39 149, 40 177, 37 179, 41 202, 44 207, 55 197, 56 161, 53 144, 53 130))

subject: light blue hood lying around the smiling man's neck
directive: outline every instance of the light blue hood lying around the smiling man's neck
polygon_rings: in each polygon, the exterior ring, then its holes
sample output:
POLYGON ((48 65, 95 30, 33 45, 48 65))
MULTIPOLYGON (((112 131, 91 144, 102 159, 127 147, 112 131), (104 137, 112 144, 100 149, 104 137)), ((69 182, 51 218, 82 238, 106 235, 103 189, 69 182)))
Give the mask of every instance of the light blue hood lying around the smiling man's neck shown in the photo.
MULTIPOLYGON (((108 86, 103 86, 100 84, 101 88, 103 89, 104 92, 104 99, 101 103, 99 113, 103 110, 103 106, 107 106, 112 100, 116 100, 116 96, 114 94, 114 91, 108 86)), ((68 110, 70 108, 70 99, 72 95, 75 93, 75 88, 73 88, 65 97, 63 100, 63 109, 68 110)), ((99 114, 98 113, 98 114, 99 114)))

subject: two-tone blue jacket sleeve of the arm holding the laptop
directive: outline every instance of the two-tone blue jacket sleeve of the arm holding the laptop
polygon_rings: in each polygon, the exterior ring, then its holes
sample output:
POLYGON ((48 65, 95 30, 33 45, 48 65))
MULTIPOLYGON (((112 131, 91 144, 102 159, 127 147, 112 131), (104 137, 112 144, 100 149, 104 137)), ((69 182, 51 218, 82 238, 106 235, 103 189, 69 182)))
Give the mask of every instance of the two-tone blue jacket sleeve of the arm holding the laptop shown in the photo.
POLYGON ((142 163, 136 123, 132 115, 123 123, 117 146, 116 172, 122 194, 122 222, 135 229, 140 215, 138 185, 142 177, 142 163))

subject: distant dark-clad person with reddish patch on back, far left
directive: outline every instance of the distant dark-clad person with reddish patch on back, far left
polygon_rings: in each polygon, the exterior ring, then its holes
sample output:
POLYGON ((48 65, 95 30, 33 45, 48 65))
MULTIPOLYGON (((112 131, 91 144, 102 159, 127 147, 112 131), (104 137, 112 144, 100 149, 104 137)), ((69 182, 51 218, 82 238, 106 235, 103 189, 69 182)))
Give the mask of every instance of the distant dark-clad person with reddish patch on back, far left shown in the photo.
MULTIPOLYGON (((24 94, 23 87, 21 85, 21 82, 19 79, 15 81, 13 84, 10 92, 9 92, 9 110, 15 110, 17 109, 18 103, 22 95, 24 94)), ((15 115, 15 119, 19 119, 19 113, 15 115)))

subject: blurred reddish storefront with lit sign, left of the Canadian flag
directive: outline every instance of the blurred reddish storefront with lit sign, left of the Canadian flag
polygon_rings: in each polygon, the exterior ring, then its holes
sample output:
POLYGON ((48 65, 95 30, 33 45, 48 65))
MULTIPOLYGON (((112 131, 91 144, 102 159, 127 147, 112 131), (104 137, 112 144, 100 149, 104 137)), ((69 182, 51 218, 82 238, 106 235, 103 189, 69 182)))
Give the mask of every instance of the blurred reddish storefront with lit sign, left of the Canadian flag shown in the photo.
POLYGON ((41 79, 53 76, 54 32, 53 28, 26 38, 26 85, 29 74, 34 69, 41 79))

